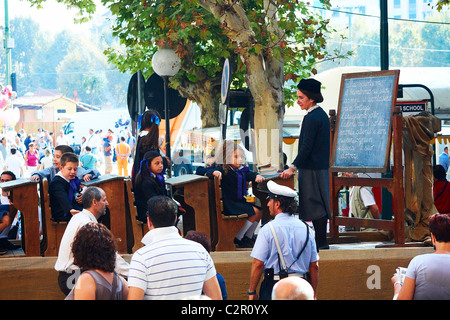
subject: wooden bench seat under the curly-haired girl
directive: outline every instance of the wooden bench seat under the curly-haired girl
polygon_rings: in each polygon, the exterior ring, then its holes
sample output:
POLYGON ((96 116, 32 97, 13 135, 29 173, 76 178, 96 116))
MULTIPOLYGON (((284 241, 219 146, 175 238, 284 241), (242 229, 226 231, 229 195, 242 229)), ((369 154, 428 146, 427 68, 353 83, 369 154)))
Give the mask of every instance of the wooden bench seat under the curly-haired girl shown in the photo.
POLYGON ((220 179, 214 177, 214 200, 216 204, 215 222, 217 225, 217 244, 215 251, 235 251, 234 238, 245 224, 248 214, 226 216, 223 214, 222 188, 220 179))

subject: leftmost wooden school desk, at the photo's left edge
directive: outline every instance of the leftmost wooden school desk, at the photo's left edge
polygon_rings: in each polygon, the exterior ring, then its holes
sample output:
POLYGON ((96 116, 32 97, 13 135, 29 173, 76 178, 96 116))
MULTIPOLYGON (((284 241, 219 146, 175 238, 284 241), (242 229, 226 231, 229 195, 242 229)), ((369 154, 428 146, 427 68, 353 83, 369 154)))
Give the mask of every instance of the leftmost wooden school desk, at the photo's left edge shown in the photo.
POLYGON ((25 244, 27 257, 40 256, 39 240, 39 200, 37 193, 37 181, 19 179, 0 183, 0 188, 12 191, 11 201, 23 216, 22 237, 25 244))

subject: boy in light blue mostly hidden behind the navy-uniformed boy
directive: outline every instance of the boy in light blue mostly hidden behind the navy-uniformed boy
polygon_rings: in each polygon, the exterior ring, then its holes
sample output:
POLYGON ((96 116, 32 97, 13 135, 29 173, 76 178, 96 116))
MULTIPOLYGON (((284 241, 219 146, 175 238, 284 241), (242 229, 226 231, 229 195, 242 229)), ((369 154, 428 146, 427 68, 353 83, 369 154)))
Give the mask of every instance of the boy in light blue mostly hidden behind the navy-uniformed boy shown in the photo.
MULTIPOLYGON (((46 168, 44 170, 32 172, 30 179, 40 181, 44 178, 47 178, 47 181, 50 183, 50 181, 52 181, 53 178, 58 173, 61 157, 66 152, 73 153, 73 149, 68 145, 56 146, 55 151, 53 152, 53 166, 46 168)), ((100 172, 98 172, 95 169, 87 170, 82 167, 79 167, 77 171, 78 179, 84 180, 86 182, 96 179, 99 176, 100 172)))

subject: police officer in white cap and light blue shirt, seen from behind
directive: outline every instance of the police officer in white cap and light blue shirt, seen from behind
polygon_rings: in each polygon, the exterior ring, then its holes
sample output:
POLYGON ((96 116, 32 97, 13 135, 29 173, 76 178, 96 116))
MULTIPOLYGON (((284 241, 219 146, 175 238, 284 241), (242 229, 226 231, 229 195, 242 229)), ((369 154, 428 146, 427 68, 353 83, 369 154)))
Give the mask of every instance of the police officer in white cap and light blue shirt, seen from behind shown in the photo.
POLYGON ((306 223, 294 217, 294 213, 297 212, 295 199, 297 193, 273 181, 267 183, 267 191, 269 193, 267 206, 274 219, 261 228, 251 253, 254 259, 250 287, 247 290, 249 300, 258 299, 256 287, 263 272, 264 279, 259 291, 261 300, 271 299, 272 288, 280 277, 306 278, 308 272, 308 279, 316 293, 319 280, 319 257, 314 232, 306 223), (279 249, 277 249, 276 239, 279 249), (282 253, 282 259, 278 254, 279 250, 282 253))

